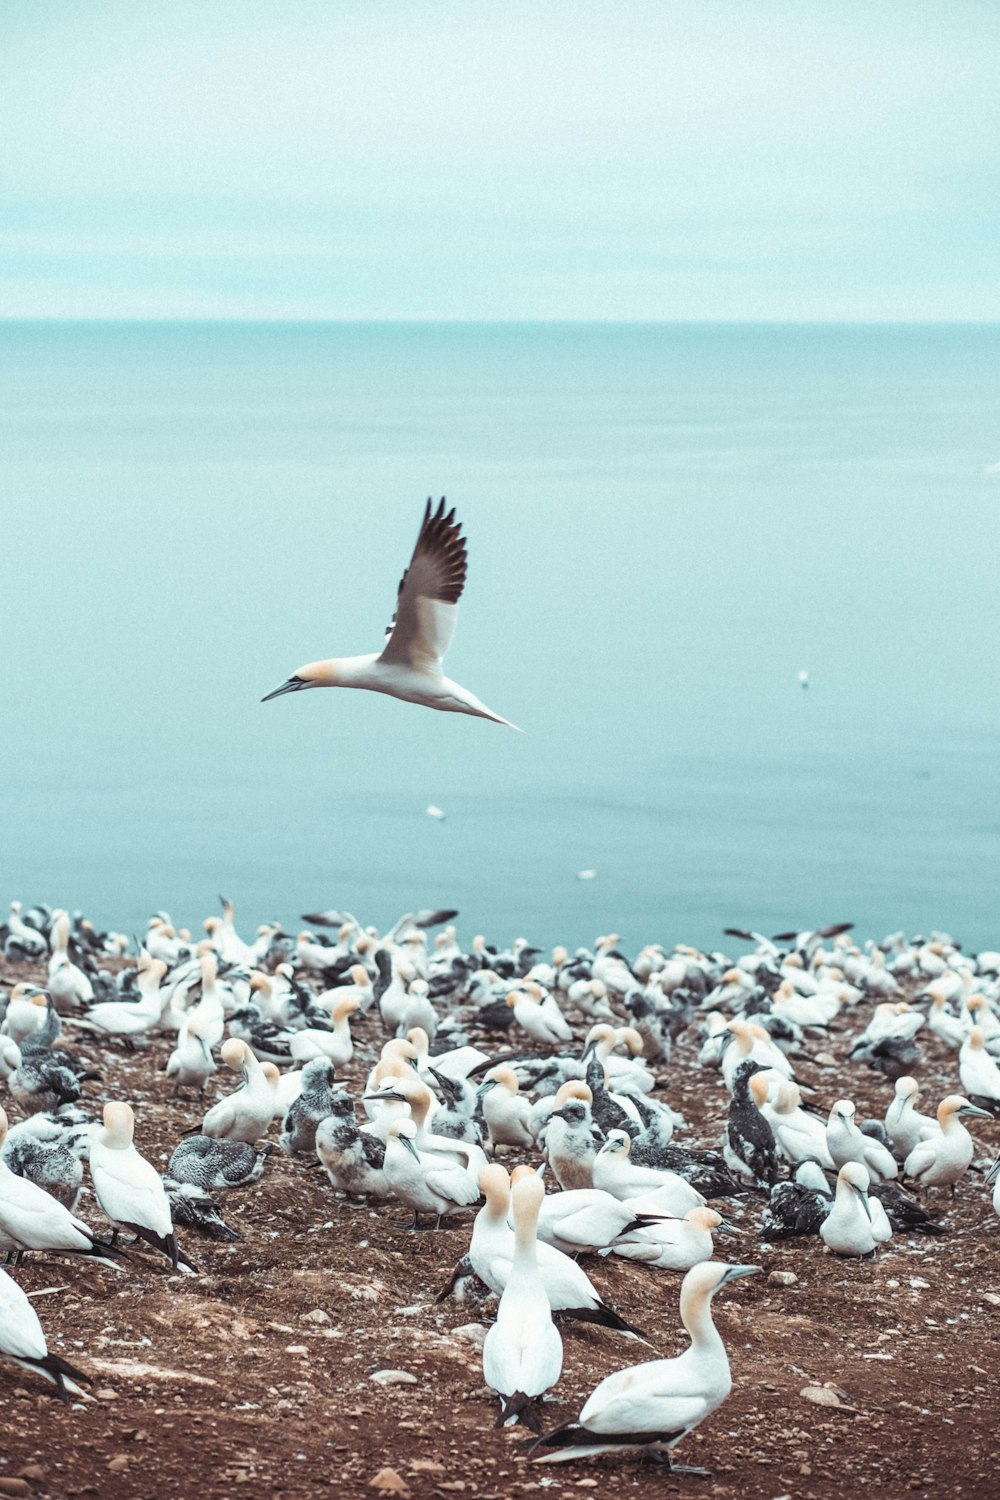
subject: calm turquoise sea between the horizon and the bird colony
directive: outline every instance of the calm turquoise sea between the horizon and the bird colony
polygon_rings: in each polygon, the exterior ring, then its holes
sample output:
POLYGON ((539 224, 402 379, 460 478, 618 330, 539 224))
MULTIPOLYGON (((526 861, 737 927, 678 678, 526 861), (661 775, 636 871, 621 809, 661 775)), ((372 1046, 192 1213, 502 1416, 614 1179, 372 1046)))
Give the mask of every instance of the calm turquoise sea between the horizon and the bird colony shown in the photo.
POLYGON ((7 324, 0 896, 999 945, 999 356, 996 328, 7 324), (528 734, 261 705, 378 645, 429 494, 469 536, 450 672, 528 734))

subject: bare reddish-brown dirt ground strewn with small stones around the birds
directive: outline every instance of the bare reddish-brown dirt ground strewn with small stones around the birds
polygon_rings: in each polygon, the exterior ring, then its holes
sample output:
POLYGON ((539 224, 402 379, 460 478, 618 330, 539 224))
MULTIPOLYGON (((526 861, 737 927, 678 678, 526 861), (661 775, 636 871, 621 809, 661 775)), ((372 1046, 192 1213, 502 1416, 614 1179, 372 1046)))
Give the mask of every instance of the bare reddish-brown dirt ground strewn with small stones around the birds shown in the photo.
MULTIPOLYGON (((28 972, 0 966, 0 984, 28 972)), ((862 1005, 847 1017, 850 1030, 867 1016, 862 1005)), ((369 1017, 358 1028, 354 1082, 379 1042, 369 1017)), ((76 1047, 103 1070, 103 1082, 87 1086, 94 1113, 103 1100, 129 1098, 138 1146, 160 1166, 199 1118, 193 1102, 169 1098, 159 1071, 169 1046, 156 1040, 133 1054, 91 1040, 76 1047)), ((934 1038, 922 1046, 928 1107, 957 1088, 957 1062, 934 1038)), ((844 1066, 844 1032, 829 1050, 837 1068, 796 1066, 817 1102, 850 1095, 859 1116, 882 1114, 889 1084, 844 1066)), ((664 1083, 688 1119, 679 1138, 711 1143, 726 1101, 721 1083, 694 1066, 696 1052, 688 1034, 664 1083)), ((982 1124, 985 1158, 1000 1143, 1000 1122, 982 1124)), ((351 1208, 321 1170, 276 1154, 252 1188, 219 1197, 241 1244, 183 1236, 202 1270, 196 1278, 174 1276, 151 1256, 136 1256, 126 1276, 57 1257, 25 1260, 16 1276, 27 1292, 58 1288, 34 1300, 49 1347, 94 1376, 96 1400, 63 1407, 36 1377, 0 1365, 0 1496, 214 1500, 241 1485, 288 1497, 333 1486, 414 1500, 588 1490, 832 1500, 861 1485, 889 1497, 996 1494, 1000 1222, 981 1176, 966 1179, 954 1206, 934 1197, 952 1233, 897 1236, 874 1263, 828 1256, 817 1239, 762 1251, 756 1204, 727 1210, 741 1228, 735 1240, 720 1239, 718 1256, 795 1270, 798 1281, 781 1287, 756 1276, 715 1302, 733 1394, 676 1452, 679 1462, 714 1470, 694 1479, 631 1458, 526 1462, 520 1436, 493 1430, 478 1347, 454 1332, 477 1320, 477 1308, 433 1304, 468 1246, 471 1215, 411 1234, 396 1226, 397 1209, 351 1208), (379 1370, 408 1371, 417 1383, 382 1388, 372 1383, 379 1370), (801 1396, 826 1382, 843 1406, 801 1396), (372 1486, 385 1467, 399 1476, 394 1491, 372 1486)), ((78 1212, 100 1226, 88 1196, 78 1212)), ((679 1275, 618 1260, 592 1260, 588 1270, 664 1354, 679 1352, 679 1275)), ((606 1374, 649 1358, 579 1326, 564 1329, 564 1344, 553 1425, 606 1374)))

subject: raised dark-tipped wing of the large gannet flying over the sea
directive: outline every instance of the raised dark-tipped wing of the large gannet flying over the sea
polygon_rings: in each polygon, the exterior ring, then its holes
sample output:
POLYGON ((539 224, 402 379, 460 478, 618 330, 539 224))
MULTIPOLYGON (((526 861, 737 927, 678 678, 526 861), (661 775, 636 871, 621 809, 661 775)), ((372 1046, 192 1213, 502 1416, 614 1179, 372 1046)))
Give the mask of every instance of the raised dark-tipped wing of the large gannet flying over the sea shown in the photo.
POLYGON ((439 672, 451 645, 465 586, 466 556, 462 526, 444 498, 424 510, 417 546, 396 597, 381 660, 418 672, 439 672))

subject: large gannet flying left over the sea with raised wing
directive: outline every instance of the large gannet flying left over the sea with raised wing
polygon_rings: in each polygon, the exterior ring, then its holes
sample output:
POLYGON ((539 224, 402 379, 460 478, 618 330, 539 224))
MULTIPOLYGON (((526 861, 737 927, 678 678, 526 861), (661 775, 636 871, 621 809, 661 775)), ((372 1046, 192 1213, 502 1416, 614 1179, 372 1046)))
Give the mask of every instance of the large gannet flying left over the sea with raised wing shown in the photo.
POLYGON ((361 687, 448 714, 492 718, 496 724, 516 729, 517 724, 495 714, 441 670, 454 636, 465 574, 465 537, 454 510, 445 514, 441 500, 432 512, 427 501, 414 555, 399 584, 396 614, 381 656, 372 652, 309 662, 261 702, 267 704, 282 693, 298 693, 306 687, 361 687))

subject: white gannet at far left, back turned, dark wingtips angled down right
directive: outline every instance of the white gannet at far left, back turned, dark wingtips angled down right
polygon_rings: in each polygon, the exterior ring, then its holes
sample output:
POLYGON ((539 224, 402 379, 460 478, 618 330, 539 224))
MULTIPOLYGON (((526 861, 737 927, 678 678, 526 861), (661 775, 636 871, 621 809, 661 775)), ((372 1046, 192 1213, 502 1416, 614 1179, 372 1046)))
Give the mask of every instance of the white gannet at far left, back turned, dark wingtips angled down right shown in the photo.
POLYGON ((127 1104, 103 1107, 103 1128, 90 1142, 90 1178, 94 1196, 111 1220, 115 1236, 129 1228, 168 1257, 174 1270, 195 1272, 177 1245, 166 1190, 154 1167, 132 1143, 135 1116, 127 1104))

